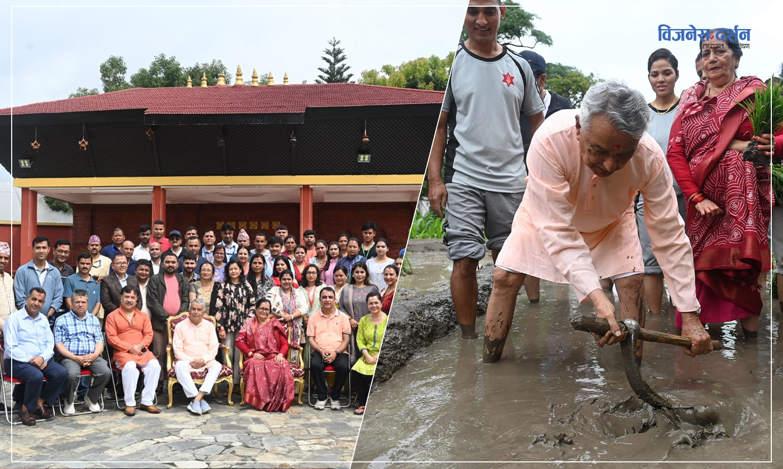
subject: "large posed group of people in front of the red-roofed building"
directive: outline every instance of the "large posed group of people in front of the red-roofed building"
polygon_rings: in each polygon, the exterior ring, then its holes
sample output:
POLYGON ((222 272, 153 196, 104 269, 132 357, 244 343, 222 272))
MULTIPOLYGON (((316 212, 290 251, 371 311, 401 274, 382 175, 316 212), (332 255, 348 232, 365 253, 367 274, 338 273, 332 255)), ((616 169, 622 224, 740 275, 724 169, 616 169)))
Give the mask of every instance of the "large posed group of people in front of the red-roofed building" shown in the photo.
MULTIPOLYGON (((269 239, 257 233, 251 249, 244 229, 233 240, 230 223, 222 225, 216 243, 215 229, 199 238, 190 226, 185 236, 172 230, 167 238, 157 221, 139 227, 138 246, 119 228, 103 249, 99 237, 91 236, 76 271, 67 265, 70 242, 58 240, 47 261, 49 240, 35 238, 33 260, 14 279, 0 274, 4 373, 22 381, 13 391, 22 423, 51 418, 45 404, 61 395, 63 413, 74 414, 74 397, 85 380, 85 405, 99 412, 112 373, 103 358, 104 333, 113 350, 106 357, 121 374, 127 415, 135 414, 140 373, 141 409, 160 413, 156 395, 175 376, 190 412, 207 412, 205 398, 226 373, 224 366, 236 391, 242 373, 244 402, 285 412, 294 399, 294 376, 305 373, 298 363, 311 370, 316 409, 328 399, 324 367, 334 366, 331 408, 340 409, 354 364, 355 413, 363 413, 402 264, 402 258, 395 262, 386 255, 388 242, 375 240, 376 230, 366 222, 363 241, 343 234, 331 243, 307 230, 298 244, 280 225, 269 239), (188 317, 171 328, 169 343, 167 321, 181 312, 188 317), (227 360, 218 356, 221 344, 227 360), (166 366, 168 346, 172 370, 166 366), (92 379, 81 377, 81 370, 90 370, 92 379), (199 388, 193 376, 203 380, 199 388)), ((0 243, 0 272, 9 254, 8 244, 0 243)))

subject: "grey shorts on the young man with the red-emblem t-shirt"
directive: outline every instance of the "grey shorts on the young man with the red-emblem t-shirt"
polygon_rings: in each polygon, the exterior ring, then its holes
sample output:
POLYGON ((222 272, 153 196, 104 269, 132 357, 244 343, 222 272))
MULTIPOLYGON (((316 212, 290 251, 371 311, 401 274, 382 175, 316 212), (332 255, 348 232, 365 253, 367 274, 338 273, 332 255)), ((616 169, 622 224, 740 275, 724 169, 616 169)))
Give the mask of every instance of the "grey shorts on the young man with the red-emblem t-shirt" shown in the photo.
POLYGON ((503 247, 524 192, 489 192, 453 182, 446 184, 446 191, 443 244, 449 247, 449 259, 479 260, 487 249, 503 247))

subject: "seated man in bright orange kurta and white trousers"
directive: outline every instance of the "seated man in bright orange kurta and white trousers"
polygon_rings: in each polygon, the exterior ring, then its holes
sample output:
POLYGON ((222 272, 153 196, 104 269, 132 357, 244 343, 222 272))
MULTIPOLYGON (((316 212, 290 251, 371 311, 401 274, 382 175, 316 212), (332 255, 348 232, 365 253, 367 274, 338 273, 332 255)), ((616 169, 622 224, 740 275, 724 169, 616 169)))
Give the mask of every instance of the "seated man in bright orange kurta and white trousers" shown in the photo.
POLYGON ((134 393, 139 382, 139 368, 144 371, 141 408, 149 413, 160 413, 154 406, 155 387, 161 365, 150 352, 153 332, 150 318, 136 308, 136 290, 127 285, 121 290, 121 305, 106 318, 106 340, 114 348, 112 360, 122 370, 122 388, 125 415, 135 415, 134 393))

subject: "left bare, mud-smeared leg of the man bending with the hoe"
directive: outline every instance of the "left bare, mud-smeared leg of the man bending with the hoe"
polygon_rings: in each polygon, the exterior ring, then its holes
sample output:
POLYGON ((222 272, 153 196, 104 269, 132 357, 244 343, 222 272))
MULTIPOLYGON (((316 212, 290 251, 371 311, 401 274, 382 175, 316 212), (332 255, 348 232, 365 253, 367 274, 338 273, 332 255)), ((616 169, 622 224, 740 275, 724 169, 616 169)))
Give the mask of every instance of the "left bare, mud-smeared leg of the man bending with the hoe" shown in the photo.
POLYGON ((525 277, 524 273, 508 272, 500 267, 493 271, 493 288, 484 326, 484 363, 495 363, 503 354, 511 320, 514 319, 517 294, 525 277))

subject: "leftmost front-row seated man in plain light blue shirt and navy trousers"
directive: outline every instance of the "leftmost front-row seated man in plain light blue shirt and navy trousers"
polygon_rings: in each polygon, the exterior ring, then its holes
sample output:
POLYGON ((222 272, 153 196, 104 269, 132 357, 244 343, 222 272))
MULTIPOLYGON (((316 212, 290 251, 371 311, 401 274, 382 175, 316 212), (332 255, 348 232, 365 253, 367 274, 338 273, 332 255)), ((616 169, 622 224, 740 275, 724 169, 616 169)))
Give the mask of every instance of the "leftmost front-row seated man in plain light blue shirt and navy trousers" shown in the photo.
MULTIPOLYGON (((60 276, 56 280, 62 283, 60 276)), ((39 314, 45 302, 46 290, 32 287, 24 307, 13 312, 3 326, 5 370, 23 381, 14 389, 13 397, 16 402, 22 402, 19 414, 25 425, 34 425, 36 417, 52 418, 44 405, 57 400, 68 377, 67 370, 52 360, 54 335, 49 321, 39 314)))

